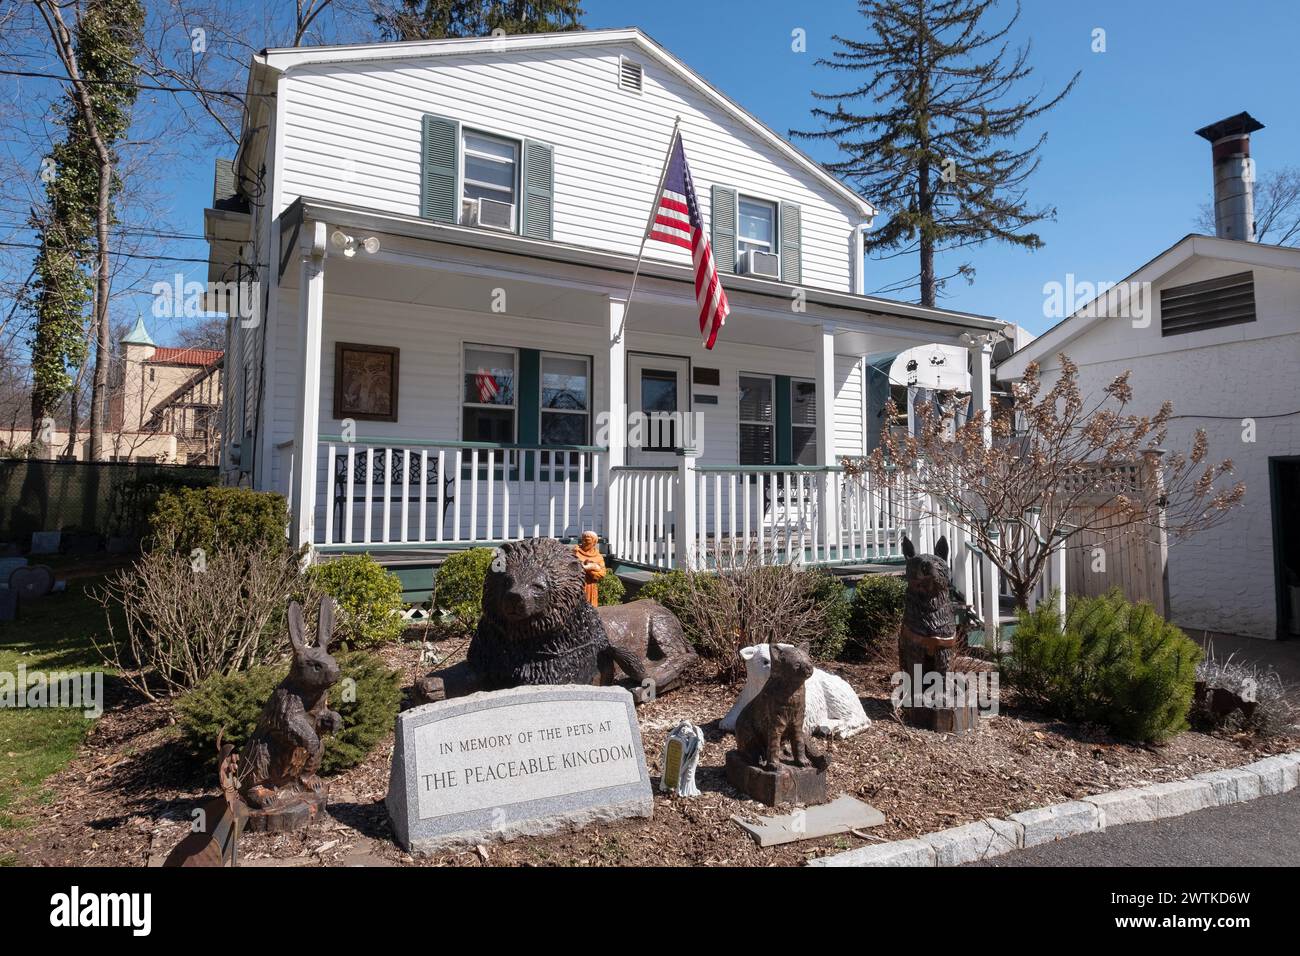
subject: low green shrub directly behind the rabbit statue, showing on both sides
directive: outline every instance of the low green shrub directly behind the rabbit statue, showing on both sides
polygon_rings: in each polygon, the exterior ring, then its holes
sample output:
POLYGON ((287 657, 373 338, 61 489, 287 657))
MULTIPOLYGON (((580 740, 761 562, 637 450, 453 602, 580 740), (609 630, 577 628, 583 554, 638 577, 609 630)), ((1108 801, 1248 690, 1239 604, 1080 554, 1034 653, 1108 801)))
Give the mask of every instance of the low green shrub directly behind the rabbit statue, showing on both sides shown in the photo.
MULTIPOLYGON (((330 706, 343 715, 343 730, 325 737, 322 774, 360 763, 393 730, 402 704, 400 674, 373 654, 338 653, 334 659, 343 676, 330 691, 330 706)), ((177 698, 177 724, 190 754, 214 766, 218 734, 224 743, 243 748, 261 709, 287 672, 286 665, 251 667, 231 676, 209 678, 177 698)))

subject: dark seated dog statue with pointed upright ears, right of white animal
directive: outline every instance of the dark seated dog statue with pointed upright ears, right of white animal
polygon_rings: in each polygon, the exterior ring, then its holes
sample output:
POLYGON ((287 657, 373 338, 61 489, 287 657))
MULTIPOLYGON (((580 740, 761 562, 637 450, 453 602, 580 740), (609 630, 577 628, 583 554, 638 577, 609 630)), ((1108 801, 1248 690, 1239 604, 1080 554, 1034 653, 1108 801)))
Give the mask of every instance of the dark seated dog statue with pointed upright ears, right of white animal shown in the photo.
POLYGON ((905 536, 902 553, 907 559, 907 594, 904 600, 902 627, 898 631, 898 667, 911 676, 916 665, 922 674, 946 674, 957 650, 957 620, 949 596, 948 538, 935 542, 933 554, 916 554, 905 536))

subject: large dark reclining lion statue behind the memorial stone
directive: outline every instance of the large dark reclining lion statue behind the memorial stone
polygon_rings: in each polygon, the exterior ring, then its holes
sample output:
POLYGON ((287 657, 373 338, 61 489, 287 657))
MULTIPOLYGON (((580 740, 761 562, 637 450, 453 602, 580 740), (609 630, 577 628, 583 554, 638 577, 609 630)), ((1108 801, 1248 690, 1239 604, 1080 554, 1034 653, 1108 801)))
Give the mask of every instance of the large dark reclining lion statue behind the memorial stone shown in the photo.
POLYGON ((421 701, 523 684, 612 684, 621 670, 637 702, 675 685, 696 659, 681 624, 655 601, 588 604, 573 549, 554 538, 497 549, 467 659, 416 684, 421 701), (653 683, 650 683, 653 682, 653 683))

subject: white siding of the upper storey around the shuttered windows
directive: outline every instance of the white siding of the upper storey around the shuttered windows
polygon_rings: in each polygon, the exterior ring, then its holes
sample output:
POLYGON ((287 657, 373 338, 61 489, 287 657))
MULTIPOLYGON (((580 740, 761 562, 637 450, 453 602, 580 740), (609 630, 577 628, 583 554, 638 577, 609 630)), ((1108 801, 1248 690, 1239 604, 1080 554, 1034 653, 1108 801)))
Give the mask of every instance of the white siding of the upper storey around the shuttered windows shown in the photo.
MULTIPOLYGON (((637 251, 680 114, 706 225, 714 183, 797 203, 803 284, 852 290, 852 204, 630 44, 298 66, 281 79, 278 103, 277 213, 306 195, 419 215, 420 117, 438 113, 551 143, 555 241, 624 254, 637 251), (619 88, 624 53, 645 65, 640 95, 619 88)), ((689 263, 658 242, 647 255, 689 263)))

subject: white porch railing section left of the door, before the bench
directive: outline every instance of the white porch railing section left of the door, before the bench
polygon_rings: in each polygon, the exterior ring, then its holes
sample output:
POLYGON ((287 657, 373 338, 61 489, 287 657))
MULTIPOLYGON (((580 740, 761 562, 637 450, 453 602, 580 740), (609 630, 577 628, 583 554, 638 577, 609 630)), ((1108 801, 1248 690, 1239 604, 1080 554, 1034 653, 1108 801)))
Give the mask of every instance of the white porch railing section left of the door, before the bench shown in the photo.
POLYGON ((603 455, 594 446, 322 436, 315 540, 464 546, 599 532, 603 455))

